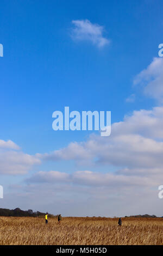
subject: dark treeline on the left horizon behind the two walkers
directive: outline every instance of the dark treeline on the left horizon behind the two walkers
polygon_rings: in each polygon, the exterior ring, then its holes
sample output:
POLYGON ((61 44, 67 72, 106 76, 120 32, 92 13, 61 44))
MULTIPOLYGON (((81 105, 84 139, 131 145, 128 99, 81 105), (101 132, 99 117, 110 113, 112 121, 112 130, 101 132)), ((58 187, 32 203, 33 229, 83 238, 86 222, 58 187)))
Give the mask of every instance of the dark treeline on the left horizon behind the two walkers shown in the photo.
MULTIPOLYGON (((20 208, 16 208, 14 210, 9 209, 2 209, 0 208, 0 216, 12 216, 12 217, 43 217, 45 216, 45 212, 36 211, 33 212, 33 210, 23 211, 20 208)), ((48 217, 54 218, 58 215, 48 214, 48 217)))

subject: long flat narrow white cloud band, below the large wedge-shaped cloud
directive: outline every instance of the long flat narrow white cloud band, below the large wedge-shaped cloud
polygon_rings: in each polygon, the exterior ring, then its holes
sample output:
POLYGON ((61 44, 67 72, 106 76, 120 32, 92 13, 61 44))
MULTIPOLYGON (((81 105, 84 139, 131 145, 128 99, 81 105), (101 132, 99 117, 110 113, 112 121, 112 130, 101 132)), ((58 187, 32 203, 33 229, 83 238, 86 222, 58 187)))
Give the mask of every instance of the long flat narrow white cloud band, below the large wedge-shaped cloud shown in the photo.
POLYGON ((34 174, 31 178, 26 180, 30 183, 53 183, 61 184, 68 183, 72 185, 82 185, 82 186, 109 186, 111 187, 133 187, 133 186, 156 186, 158 185, 158 180, 153 179, 152 175, 138 176, 128 175, 126 169, 121 170, 116 173, 100 173, 92 172, 90 170, 77 171, 72 174, 57 172, 51 170, 49 172, 38 172, 34 174))

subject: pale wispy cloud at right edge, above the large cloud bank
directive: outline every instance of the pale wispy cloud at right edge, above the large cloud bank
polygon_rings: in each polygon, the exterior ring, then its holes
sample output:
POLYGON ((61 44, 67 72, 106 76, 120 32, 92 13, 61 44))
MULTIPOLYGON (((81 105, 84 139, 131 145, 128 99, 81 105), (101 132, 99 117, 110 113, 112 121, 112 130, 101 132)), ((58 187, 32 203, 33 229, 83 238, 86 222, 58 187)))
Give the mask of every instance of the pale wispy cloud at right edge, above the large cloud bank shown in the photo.
POLYGON ((134 84, 142 86, 147 96, 163 103, 163 58, 154 58, 147 69, 135 77, 134 84))

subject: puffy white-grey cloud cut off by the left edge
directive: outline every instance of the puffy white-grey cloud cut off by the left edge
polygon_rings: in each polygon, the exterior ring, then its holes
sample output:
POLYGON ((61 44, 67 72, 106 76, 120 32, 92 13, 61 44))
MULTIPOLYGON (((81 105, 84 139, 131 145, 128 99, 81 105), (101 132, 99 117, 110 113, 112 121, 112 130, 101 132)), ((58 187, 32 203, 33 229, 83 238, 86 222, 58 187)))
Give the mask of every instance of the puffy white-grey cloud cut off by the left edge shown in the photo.
POLYGON ((24 154, 12 141, 0 141, 0 174, 25 174, 41 161, 36 156, 24 154))

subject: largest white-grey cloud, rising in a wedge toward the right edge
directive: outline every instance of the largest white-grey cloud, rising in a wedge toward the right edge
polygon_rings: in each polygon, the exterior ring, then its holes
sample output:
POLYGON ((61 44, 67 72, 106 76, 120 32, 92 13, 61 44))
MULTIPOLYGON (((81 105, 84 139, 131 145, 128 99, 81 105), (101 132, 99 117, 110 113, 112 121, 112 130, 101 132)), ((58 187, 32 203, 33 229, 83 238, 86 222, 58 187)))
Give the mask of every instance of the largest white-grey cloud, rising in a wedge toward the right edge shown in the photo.
POLYGON ((122 122, 114 123, 111 136, 92 135, 86 142, 70 143, 66 148, 37 155, 44 160, 74 160, 77 164, 110 164, 129 168, 162 168, 163 107, 134 111, 122 122))

